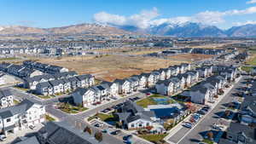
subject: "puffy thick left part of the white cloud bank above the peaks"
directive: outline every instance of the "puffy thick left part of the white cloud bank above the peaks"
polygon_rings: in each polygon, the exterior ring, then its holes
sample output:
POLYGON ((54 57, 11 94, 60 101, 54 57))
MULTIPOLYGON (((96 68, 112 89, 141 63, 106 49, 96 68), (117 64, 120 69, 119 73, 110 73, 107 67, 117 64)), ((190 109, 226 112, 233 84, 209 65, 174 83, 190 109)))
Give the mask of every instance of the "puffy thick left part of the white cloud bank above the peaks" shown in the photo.
POLYGON ((140 28, 146 28, 149 25, 149 21, 159 16, 158 10, 153 8, 151 10, 143 10, 140 14, 133 14, 129 17, 121 16, 118 14, 108 14, 106 12, 100 12, 94 14, 93 19, 96 22, 104 24, 113 24, 118 26, 129 25, 137 26, 140 28))

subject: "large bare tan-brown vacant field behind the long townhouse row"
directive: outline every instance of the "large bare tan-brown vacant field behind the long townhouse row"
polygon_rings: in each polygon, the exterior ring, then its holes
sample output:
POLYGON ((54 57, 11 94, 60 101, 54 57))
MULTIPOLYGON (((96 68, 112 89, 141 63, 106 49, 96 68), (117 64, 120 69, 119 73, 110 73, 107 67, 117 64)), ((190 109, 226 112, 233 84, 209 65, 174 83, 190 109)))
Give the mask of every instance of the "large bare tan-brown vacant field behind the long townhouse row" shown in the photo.
POLYGON ((76 56, 63 57, 61 59, 40 59, 38 61, 56 66, 64 66, 71 71, 79 72, 79 74, 90 73, 95 75, 96 78, 108 81, 113 81, 115 78, 127 78, 134 74, 188 62, 119 55, 105 55, 102 57, 76 56))

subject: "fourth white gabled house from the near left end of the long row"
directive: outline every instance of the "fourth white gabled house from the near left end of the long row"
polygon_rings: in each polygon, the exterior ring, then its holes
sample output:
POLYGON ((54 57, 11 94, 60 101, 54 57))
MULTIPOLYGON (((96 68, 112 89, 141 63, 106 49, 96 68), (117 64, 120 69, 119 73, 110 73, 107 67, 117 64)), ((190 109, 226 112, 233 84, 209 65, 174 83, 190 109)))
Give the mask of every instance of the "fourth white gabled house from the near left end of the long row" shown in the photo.
POLYGON ((126 79, 115 79, 114 84, 119 86, 119 94, 129 94, 131 93, 131 83, 126 79))

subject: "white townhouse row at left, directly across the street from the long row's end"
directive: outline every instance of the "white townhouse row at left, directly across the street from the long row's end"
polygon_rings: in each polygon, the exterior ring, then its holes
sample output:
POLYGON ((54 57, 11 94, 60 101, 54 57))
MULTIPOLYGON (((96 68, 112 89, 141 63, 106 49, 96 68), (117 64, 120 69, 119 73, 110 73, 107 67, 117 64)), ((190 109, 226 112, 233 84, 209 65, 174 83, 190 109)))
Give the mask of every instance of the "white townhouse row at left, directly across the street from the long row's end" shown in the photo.
MULTIPOLYGON (((40 81, 43 81, 43 79, 40 81)), ((95 78, 90 74, 85 74, 38 83, 34 92, 38 95, 59 95, 77 88, 88 88, 94 84, 95 78)))

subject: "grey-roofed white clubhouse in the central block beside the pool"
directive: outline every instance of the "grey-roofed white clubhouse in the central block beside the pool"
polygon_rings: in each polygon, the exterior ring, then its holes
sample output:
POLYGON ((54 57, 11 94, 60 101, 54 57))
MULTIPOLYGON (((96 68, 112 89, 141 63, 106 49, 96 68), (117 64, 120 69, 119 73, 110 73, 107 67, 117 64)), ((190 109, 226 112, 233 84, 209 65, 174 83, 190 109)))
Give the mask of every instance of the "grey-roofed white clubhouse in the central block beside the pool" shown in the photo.
POLYGON ((145 111, 143 107, 137 106, 132 101, 125 101, 124 106, 120 107, 113 115, 119 119, 122 128, 127 130, 140 130, 147 127, 153 127, 152 130, 157 131, 164 130, 160 124, 156 123, 158 118, 155 117, 154 112, 145 111))

